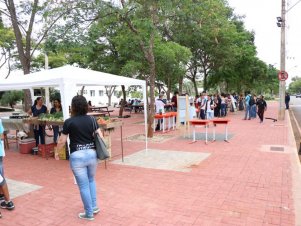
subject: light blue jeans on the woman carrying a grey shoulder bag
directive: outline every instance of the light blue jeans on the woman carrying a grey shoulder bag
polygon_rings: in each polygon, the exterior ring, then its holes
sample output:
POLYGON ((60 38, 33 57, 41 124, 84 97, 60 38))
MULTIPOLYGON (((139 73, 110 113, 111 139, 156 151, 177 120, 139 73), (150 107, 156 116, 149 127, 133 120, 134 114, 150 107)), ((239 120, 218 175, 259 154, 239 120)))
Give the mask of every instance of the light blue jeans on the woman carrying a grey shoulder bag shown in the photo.
POLYGON ((97 208, 95 174, 97 169, 94 149, 75 151, 70 155, 70 167, 79 187, 80 196, 87 216, 93 216, 97 208))

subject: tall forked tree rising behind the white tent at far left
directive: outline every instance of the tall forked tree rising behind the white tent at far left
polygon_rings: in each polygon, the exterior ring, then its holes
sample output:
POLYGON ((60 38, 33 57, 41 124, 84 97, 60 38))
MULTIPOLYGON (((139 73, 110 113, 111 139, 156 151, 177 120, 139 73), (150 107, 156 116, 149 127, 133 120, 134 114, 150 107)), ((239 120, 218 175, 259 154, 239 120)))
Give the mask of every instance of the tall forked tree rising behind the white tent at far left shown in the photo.
MULTIPOLYGON (((5 7, 0 9, 0 12, 7 16, 13 28, 18 59, 24 74, 31 72, 31 62, 35 51, 56 23, 65 21, 69 25, 67 15, 71 14, 73 10, 78 13, 77 9, 81 7, 92 7, 88 4, 93 5, 93 2, 83 3, 73 0, 24 0, 15 2, 14 0, 3 0, 5 7)), ((83 18, 81 16, 82 14, 78 15, 77 18, 83 18)), ((90 18, 90 15, 86 17, 90 18)), ((84 21, 86 21, 86 17, 83 19, 84 21)), ((79 19, 74 21, 80 22, 79 19)), ((72 25, 75 26, 76 24, 73 23, 72 25)), ((70 26, 66 29, 70 29, 70 26)), ((25 109, 27 110, 30 106, 31 96, 29 90, 26 90, 25 109)))

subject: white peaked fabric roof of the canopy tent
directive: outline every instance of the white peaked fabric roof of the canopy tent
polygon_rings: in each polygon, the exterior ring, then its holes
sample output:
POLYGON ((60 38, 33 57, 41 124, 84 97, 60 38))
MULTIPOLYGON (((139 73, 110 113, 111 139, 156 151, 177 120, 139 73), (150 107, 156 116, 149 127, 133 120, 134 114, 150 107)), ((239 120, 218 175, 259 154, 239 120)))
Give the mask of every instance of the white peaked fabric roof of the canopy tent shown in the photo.
POLYGON ((74 66, 63 66, 34 72, 24 76, 0 80, 0 90, 20 90, 32 87, 55 87, 60 84, 75 86, 145 85, 145 81, 108 74, 74 66))

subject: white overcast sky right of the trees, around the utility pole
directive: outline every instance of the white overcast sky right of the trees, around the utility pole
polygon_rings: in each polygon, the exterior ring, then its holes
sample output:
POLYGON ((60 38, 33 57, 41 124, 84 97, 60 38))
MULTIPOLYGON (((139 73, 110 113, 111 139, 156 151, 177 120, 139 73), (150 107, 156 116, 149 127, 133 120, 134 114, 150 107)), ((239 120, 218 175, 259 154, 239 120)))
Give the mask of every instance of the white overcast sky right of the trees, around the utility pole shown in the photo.
MULTIPOLYGON (((258 57, 267 64, 280 68, 280 28, 276 17, 281 16, 282 0, 228 0, 234 12, 245 15, 245 26, 255 31, 258 57)), ((301 2, 287 0, 286 71, 289 79, 301 77, 301 2)))

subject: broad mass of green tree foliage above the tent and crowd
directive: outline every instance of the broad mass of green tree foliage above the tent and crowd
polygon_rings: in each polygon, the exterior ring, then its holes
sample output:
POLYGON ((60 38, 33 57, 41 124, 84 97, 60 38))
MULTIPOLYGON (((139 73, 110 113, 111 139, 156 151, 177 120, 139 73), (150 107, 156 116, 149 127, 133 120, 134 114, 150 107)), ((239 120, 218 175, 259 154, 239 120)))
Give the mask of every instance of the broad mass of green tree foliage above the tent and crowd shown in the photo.
MULTIPOLYGON (((50 67, 75 63, 149 83, 147 57, 154 35, 155 80, 168 90, 186 77, 195 91, 203 81, 205 89, 220 87, 224 92, 276 92, 273 73, 256 56, 255 34, 245 29, 226 1, 124 3, 78 3, 80 7, 64 19, 66 24, 55 26, 44 44, 50 67), (92 19, 87 31, 80 32, 82 26, 78 25, 66 32, 68 25, 82 22, 87 15, 92 19)), ((42 67, 43 56, 37 61, 42 67)))

